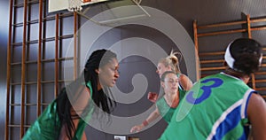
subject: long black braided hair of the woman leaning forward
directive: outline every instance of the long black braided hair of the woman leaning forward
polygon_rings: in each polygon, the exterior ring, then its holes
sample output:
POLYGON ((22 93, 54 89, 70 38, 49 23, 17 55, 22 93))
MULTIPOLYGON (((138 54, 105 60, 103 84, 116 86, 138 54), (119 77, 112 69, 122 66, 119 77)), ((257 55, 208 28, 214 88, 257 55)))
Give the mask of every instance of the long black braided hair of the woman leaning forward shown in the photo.
MULTIPOLYGON (((108 87, 103 87, 103 89, 98 90, 98 74, 96 70, 99 67, 106 66, 110 63, 112 58, 116 58, 116 54, 112 51, 107 51, 105 49, 93 51, 90 58, 87 60, 84 70, 80 77, 78 77, 74 82, 68 84, 65 88, 60 91, 59 97, 56 98, 57 112, 59 114, 60 126, 66 125, 66 136, 72 139, 72 132, 75 131, 74 119, 80 118, 78 114, 71 113, 73 102, 77 101, 80 96, 82 89, 80 86, 83 82, 91 83, 92 90, 92 100, 98 108, 102 109, 104 112, 110 114, 116 102, 113 101, 108 95, 111 91, 108 87), (104 92, 105 91, 105 92, 104 92), (71 101, 69 100, 71 98, 71 101)), ((85 84, 88 89, 90 87, 85 84)), ((90 112, 91 102, 86 105, 86 109, 82 112, 82 116, 90 112), (88 109, 89 108, 89 109, 88 109)))

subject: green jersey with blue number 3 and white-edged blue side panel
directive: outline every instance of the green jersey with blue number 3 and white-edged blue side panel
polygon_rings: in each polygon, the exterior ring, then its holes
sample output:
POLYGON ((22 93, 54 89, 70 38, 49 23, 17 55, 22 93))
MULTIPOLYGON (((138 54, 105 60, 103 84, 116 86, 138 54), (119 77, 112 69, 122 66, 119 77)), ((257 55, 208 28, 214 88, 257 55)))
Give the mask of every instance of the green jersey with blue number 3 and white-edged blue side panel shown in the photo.
POLYGON ((253 92, 227 74, 201 79, 186 93, 160 140, 246 139, 246 108, 253 92))

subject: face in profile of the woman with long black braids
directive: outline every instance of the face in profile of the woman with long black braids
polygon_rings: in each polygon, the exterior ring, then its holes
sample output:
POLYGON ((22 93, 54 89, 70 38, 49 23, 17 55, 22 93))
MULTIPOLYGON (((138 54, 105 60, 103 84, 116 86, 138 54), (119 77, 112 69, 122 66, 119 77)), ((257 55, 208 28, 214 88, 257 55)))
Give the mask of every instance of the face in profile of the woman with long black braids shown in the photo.
POLYGON ((116 58, 112 58, 106 66, 100 67, 98 69, 100 84, 107 87, 113 87, 119 77, 118 67, 119 65, 116 58))

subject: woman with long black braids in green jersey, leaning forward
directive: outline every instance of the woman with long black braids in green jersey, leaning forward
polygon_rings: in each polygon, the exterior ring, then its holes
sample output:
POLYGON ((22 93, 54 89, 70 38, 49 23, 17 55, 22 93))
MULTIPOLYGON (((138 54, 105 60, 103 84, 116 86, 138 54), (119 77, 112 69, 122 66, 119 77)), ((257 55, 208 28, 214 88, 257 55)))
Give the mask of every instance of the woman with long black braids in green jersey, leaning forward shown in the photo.
POLYGON ((119 77, 118 67, 112 51, 92 52, 81 76, 60 91, 23 139, 87 139, 84 129, 92 113, 110 114, 116 105, 109 88, 119 77))

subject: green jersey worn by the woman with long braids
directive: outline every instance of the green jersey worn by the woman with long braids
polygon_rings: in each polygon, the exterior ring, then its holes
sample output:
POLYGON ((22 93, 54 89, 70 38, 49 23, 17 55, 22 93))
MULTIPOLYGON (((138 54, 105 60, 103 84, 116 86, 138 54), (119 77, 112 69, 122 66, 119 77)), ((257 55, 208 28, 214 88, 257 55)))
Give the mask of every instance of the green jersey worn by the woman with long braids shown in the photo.
MULTIPOLYGON (((87 85, 90 88, 90 97, 92 97, 91 83, 87 85)), ((88 115, 80 119, 78 126, 74 133, 73 140, 82 139, 83 131, 87 125, 86 122, 90 120, 91 113, 93 112, 92 105, 89 105, 90 109, 88 115)), ((61 122, 59 121, 59 114, 57 113, 57 102, 54 100, 50 105, 46 107, 43 113, 38 119, 27 129, 27 133, 23 136, 23 140, 57 140, 59 139, 61 130, 61 122)))

